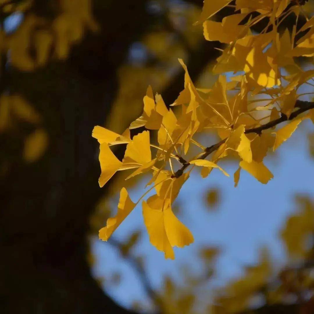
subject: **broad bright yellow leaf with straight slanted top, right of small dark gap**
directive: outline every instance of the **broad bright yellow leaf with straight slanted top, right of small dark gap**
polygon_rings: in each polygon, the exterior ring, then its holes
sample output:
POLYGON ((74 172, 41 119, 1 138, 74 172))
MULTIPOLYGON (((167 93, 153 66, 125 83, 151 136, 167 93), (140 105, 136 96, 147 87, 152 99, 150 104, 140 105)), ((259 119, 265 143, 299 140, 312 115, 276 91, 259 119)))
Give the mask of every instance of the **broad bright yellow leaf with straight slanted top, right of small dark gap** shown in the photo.
POLYGON ((145 165, 152 160, 150 151, 149 131, 133 136, 124 154, 123 164, 145 165))

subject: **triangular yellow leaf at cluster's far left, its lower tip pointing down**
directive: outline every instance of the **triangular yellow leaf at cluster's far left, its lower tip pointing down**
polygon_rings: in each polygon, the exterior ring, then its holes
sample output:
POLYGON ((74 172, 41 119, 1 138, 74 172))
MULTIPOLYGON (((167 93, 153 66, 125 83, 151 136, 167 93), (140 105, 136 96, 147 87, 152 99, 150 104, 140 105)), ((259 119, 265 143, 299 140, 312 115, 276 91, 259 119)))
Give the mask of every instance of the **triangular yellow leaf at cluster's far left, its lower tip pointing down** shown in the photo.
POLYGON ((122 166, 122 162, 112 153, 107 143, 100 144, 99 162, 101 174, 98 182, 103 187, 122 166))

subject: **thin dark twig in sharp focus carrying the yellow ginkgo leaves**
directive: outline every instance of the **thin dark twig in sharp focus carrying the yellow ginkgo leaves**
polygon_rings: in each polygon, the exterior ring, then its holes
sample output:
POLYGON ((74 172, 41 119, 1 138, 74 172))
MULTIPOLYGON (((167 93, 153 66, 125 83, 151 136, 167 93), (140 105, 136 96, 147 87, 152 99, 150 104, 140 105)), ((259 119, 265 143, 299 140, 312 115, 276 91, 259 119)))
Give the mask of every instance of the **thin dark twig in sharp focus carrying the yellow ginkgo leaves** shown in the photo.
MULTIPOLYGON (((254 127, 252 129, 248 129, 244 133, 245 134, 256 133, 258 135, 261 135, 262 131, 270 129, 270 128, 278 125, 281 122, 293 120, 294 118, 299 116, 301 113, 308 111, 310 109, 313 109, 314 108, 314 101, 310 102, 310 101, 297 100, 295 102, 295 108, 299 108, 299 109, 292 112, 291 115, 289 116, 289 118, 284 113, 281 113, 280 118, 273 120, 273 121, 270 121, 268 123, 265 123, 265 124, 261 125, 260 127, 254 127)), ((221 144, 225 143, 226 140, 227 140, 227 138, 221 140, 219 143, 216 143, 212 146, 205 148, 204 153, 198 159, 205 159, 208 155, 210 155, 212 152, 217 150, 221 144)), ((174 175, 171 176, 172 178, 179 178, 180 176, 182 176, 183 171, 190 165, 190 163, 187 162, 184 158, 182 158, 180 156, 178 156, 178 157, 179 157, 179 161, 182 164, 182 167, 178 171, 176 171, 174 175)))

